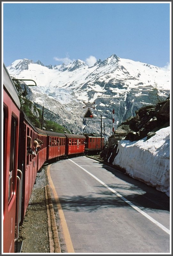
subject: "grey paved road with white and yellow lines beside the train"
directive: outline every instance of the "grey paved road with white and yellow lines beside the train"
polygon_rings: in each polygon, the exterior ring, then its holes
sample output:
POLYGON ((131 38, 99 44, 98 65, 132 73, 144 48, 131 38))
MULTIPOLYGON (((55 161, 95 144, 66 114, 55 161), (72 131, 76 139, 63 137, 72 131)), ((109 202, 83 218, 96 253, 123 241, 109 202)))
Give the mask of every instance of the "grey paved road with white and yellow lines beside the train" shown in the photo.
POLYGON ((62 252, 169 253, 169 197, 86 156, 49 165, 62 252))

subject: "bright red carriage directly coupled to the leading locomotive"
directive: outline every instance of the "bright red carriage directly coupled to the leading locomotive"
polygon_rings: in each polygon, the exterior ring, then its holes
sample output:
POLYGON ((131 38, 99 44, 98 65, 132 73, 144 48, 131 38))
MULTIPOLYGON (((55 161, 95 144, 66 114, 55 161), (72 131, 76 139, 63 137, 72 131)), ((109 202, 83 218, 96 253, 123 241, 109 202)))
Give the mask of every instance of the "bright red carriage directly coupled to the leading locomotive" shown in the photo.
POLYGON ((68 134, 66 136, 66 151, 65 155, 82 154, 85 152, 85 139, 82 134, 68 134))

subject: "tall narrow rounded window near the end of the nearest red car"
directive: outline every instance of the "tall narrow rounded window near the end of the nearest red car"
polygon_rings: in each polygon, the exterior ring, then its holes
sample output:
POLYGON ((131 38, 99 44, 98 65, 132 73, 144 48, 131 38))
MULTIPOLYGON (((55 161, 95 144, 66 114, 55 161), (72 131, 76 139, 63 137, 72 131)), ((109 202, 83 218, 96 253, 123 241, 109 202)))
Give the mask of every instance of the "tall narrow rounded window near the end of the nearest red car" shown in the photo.
POLYGON ((9 193, 10 201, 14 193, 14 168, 15 168, 15 149, 16 149, 16 120, 12 116, 11 120, 11 140, 10 140, 10 170, 9 170, 9 193))

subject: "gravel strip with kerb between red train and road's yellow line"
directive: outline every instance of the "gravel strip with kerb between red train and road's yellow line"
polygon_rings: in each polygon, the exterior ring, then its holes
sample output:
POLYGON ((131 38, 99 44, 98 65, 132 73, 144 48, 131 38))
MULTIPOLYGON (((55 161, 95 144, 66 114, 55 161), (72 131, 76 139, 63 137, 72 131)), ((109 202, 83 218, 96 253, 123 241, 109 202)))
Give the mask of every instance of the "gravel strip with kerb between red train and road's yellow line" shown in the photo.
POLYGON ((26 216, 20 227, 19 241, 23 241, 21 253, 49 253, 54 249, 46 195, 45 168, 42 168, 42 171, 37 173, 26 216))

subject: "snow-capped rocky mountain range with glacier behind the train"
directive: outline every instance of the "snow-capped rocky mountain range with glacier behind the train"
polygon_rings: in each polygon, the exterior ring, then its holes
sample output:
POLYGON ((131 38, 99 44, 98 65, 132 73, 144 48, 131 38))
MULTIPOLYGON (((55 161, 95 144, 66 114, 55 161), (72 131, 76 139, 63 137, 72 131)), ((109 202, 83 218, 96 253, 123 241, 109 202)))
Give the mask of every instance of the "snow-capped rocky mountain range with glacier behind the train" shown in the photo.
POLYGON ((102 135, 110 136, 113 109, 116 128, 135 116, 136 110, 153 103, 149 92, 155 84, 160 96, 169 96, 169 70, 115 54, 99 59, 92 67, 82 60, 52 67, 44 66, 40 60, 34 63, 23 59, 15 60, 7 69, 17 79, 33 79, 37 86, 30 87, 29 99, 52 111, 53 120, 73 132, 101 132, 102 121, 102 135), (83 101, 95 102, 95 109, 90 108, 93 119, 83 118, 88 109, 83 109, 83 101))

